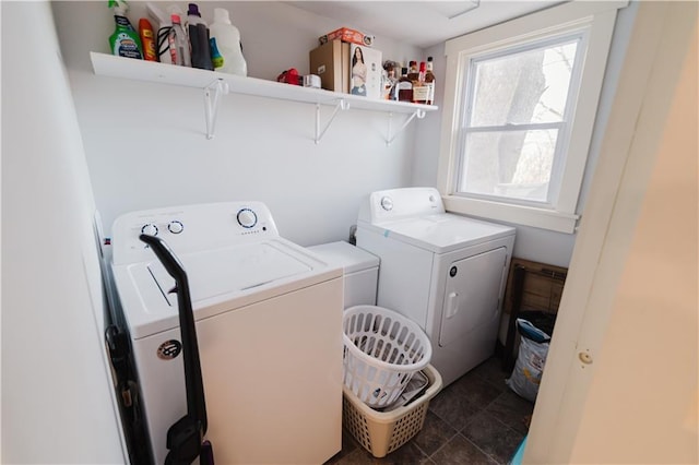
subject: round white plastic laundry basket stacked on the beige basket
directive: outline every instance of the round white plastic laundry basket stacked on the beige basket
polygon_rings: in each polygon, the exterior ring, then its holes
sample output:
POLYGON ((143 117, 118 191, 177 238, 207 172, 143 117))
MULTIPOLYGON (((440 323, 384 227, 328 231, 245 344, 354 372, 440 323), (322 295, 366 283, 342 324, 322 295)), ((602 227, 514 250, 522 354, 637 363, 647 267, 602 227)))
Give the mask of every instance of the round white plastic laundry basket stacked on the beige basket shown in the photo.
POLYGON ((382 307, 346 309, 343 330, 344 384, 372 408, 391 405, 433 355, 416 323, 382 307))

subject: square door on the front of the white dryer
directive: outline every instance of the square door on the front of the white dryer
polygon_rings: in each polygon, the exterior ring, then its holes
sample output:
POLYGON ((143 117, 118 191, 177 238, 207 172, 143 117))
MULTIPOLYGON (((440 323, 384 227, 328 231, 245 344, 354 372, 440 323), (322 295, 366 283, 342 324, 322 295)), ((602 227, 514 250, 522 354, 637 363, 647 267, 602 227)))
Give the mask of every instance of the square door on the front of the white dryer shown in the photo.
POLYGON ((497 332, 498 298, 507 261, 507 249, 452 262, 447 270, 439 345, 451 344, 467 333, 497 332))

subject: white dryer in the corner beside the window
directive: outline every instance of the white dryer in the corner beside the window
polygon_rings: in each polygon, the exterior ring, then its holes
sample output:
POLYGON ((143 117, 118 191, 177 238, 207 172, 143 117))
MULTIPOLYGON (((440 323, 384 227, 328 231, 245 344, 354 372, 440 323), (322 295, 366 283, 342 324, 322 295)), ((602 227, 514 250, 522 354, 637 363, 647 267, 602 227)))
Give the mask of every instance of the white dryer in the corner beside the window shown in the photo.
POLYGON ((407 188, 371 193, 356 236, 380 259, 377 305, 425 330, 445 385, 493 355, 514 228, 446 213, 436 189, 407 188))

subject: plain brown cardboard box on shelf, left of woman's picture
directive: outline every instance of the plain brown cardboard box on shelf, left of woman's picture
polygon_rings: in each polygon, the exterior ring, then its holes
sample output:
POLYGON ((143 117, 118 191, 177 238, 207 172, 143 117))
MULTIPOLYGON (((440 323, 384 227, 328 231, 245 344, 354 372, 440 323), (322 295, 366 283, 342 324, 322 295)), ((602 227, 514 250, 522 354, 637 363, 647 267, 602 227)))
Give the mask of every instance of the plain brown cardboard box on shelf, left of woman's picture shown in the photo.
POLYGON ((320 76, 320 86, 328 91, 350 92, 350 44, 330 40, 309 53, 310 74, 320 76))

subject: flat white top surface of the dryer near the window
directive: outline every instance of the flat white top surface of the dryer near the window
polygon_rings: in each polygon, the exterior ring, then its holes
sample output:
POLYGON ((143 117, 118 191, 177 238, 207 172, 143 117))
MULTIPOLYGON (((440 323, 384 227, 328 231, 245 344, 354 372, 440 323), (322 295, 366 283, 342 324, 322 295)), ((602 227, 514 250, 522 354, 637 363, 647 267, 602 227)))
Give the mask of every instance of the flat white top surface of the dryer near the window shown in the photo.
POLYGON ((387 238, 402 240, 435 253, 451 252, 470 246, 514 235, 514 228, 451 213, 404 218, 394 222, 362 223, 387 238))

